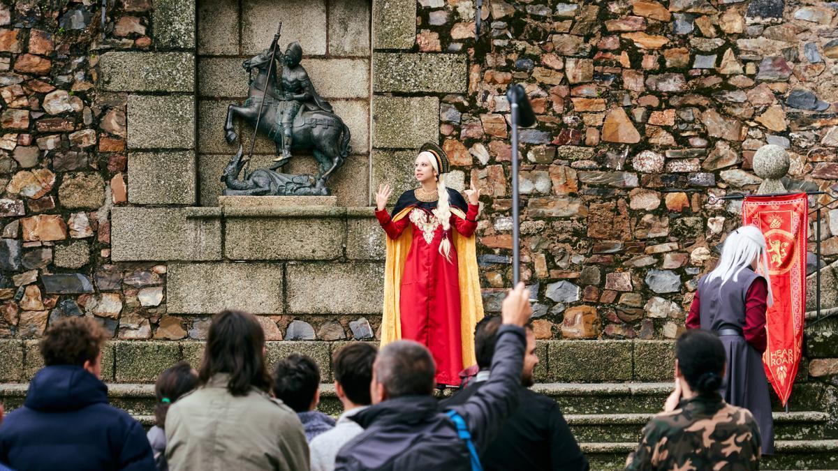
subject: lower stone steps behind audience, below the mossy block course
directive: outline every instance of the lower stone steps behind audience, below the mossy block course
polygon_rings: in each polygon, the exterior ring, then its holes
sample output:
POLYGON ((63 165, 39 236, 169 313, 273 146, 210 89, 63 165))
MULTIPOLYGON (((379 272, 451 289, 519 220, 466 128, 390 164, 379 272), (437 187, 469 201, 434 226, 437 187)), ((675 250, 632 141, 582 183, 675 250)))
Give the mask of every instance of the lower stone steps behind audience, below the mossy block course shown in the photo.
MULTIPOLYGON (((111 384, 111 403, 132 413, 146 427, 153 425, 154 391, 151 384, 111 384)), ((535 391, 559 403, 592 469, 622 468, 640 438, 640 430, 660 411, 670 384, 539 383, 535 391)), ((23 402, 27 386, 0 385, 0 397, 11 410, 23 402)), ((442 396, 450 395, 445 391, 442 396)), ((334 386, 321 386, 320 409, 339 414, 334 386)), ((834 392, 820 383, 795 386, 790 412, 775 405, 777 454, 763 460, 763 469, 838 468, 838 417, 834 392)))

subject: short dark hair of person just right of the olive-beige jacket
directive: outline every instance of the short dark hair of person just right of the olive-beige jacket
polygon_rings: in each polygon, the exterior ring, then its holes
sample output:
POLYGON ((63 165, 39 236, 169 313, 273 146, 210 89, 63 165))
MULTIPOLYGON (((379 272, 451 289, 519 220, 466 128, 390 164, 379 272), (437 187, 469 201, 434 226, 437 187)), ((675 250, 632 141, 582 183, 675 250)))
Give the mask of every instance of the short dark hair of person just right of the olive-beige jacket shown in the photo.
POLYGON ((320 368, 307 355, 291 354, 273 371, 273 395, 295 412, 308 411, 320 386, 320 368))

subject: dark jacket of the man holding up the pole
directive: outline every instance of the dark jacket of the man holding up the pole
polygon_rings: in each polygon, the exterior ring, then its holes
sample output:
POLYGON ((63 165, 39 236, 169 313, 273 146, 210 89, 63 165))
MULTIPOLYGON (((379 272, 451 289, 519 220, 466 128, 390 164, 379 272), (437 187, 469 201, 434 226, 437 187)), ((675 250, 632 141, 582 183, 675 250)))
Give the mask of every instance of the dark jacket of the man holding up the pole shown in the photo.
MULTIPOLYGON (((478 453, 484 453, 518 406, 524 329, 502 325, 492 360, 492 377, 474 396, 452 407, 463 416, 478 453)), ((352 417, 365 428, 340 449, 335 469, 471 469, 468 448, 432 396, 404 396, 370 406, 352 417)))

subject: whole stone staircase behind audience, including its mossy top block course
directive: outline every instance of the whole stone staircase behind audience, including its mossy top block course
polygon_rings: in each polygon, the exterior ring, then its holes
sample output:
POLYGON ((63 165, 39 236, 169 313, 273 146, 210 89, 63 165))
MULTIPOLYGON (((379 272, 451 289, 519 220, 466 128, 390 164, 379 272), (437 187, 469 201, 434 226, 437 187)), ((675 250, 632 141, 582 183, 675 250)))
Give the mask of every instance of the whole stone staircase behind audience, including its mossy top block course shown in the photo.
MULTIPOLYGON (((838 469, 838 375, 829 370, 838 360, 838 317, 807 327, 789 412, 773 406, 777 454, 762 469, 838 469), (816 365, 816 362, 820 362, 816 365)), ((337 415, 329 359, 345 342, 267 342, 269 365, 292 352, 311 356, 320 365, 320 410, 337 415)), ((619 469, 637 446, 649 417, 660 411, 671 391, 671 341, 540 340, 534 390, 551 396, 564 412, 592 469, 619 469)), ((28 380, 42 366, 36 340, 0 340, 0 401, 7 411, 20 406, 28 380)), ((153 381, 178 360, 199 365, 203 344, 194 341, 111 341, 103 351, 102 377, 111 404, 130 412, 143 425, 153 424, 153 381)), ((830 370, 831 371, 831 370, 830 370)), ((452 394, 445 391, 441 396, 452 394)))

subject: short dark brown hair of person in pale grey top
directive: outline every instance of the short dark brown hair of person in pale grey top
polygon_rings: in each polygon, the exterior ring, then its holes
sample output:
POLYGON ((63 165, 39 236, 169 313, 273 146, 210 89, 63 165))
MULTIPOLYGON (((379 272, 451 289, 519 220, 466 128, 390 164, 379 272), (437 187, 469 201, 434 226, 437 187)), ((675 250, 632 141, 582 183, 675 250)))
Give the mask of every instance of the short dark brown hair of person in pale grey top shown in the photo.
POLYGON ((370 381, 372 364, 378 349, 368 342, 353 342, 340 349, 332 359, 334 380, 344 388, 349 401, 362 406, 372 403, 370 381))

